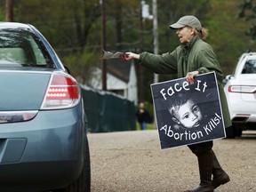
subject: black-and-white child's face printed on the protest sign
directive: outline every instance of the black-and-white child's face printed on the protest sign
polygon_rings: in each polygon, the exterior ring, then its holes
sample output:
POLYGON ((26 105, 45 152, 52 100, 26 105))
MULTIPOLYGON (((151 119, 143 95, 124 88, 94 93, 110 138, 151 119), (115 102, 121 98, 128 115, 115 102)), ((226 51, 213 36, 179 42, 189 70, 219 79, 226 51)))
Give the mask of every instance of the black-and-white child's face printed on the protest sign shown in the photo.
POLYGON ((188 100, 176 111, 180 124, 187 128, 198 127, 203 118, 200 108, 192 100, 188 100))

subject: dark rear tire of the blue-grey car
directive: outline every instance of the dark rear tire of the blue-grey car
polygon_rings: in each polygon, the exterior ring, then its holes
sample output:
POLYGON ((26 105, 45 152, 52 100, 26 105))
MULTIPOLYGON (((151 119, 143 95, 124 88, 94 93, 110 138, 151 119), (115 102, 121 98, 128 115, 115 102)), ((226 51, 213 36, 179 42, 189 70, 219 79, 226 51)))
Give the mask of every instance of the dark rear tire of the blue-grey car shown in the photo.
POLYGON ((84 166, 77 180, 67 188, 52 190, 52 192, 90 192, 91 191, 91 163, 88 140, 84 140, 84 166))

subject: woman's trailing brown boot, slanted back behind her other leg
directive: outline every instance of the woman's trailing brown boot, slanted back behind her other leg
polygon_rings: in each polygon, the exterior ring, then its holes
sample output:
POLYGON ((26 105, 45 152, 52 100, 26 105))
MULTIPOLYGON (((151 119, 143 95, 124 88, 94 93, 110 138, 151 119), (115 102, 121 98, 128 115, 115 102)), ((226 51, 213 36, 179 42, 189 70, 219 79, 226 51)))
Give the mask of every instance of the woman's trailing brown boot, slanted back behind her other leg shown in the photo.
POLYGON ((213 180, 212 180, 212 187, 218 188, 220 185, 224 185, 228 183, 229 176, 224 170, 221 168, 220 163, 215 156, 214 152, 212 152, 212 160, 213 160, 213 166, 212 166, 212 175, 213 175, 213 180))

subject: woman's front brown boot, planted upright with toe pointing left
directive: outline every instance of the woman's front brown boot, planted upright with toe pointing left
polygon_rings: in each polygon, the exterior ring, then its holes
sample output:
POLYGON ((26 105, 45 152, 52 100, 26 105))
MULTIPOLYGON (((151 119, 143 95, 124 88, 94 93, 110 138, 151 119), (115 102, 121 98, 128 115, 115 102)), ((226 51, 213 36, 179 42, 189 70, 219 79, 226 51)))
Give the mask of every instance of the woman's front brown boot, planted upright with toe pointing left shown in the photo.
POLYGON ((200 184, 188 192, 213 192, 212 187, 212 154, 197 155, 200 184))

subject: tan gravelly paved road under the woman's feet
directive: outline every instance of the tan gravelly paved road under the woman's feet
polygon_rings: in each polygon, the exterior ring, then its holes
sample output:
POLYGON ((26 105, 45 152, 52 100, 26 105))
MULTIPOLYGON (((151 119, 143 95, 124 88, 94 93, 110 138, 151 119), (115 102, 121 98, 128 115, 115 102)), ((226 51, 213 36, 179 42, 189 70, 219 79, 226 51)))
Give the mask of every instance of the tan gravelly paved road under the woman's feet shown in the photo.
MULTIPOLYGON (((256 133, 251 133, 214 141, 231 178, 216 192, 256 191, 256 133)), ((88 138, 92 192, 180 192, 198 184, 196 156, 187 147, 161 150, 156 130, 89 133, 88 138)))

